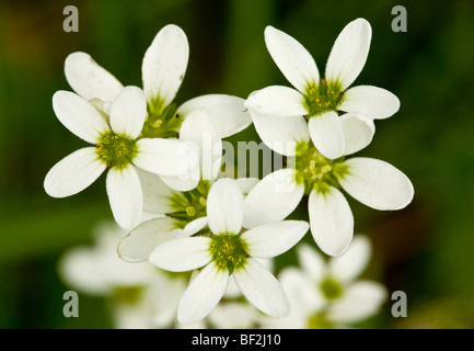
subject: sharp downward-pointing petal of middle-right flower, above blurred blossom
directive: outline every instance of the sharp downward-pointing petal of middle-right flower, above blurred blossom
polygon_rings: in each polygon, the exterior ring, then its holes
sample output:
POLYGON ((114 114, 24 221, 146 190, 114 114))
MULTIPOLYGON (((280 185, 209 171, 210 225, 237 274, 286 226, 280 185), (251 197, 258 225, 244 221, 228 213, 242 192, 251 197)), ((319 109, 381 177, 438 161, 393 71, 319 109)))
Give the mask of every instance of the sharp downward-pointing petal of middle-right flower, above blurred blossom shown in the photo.
POLYGON ((320 249, 328 256, 339 256, 354 235, 354 217, 346 197, 335 188, 324 193, 313 190, 309 199, 311 234, 320 249))

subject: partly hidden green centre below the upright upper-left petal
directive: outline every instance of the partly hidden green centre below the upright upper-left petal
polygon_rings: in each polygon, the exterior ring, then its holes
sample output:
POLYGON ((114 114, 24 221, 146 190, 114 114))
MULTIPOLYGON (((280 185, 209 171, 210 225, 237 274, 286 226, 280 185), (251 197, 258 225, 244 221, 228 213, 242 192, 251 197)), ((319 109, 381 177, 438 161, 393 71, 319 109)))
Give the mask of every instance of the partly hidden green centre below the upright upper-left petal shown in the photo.
POLYGON ((171 103, 164 106, 161 100, 148 104, 148 117, 143 124, 141 135, 147 138, 177 137, 183 118, 176 114, 177 105, 171 103))

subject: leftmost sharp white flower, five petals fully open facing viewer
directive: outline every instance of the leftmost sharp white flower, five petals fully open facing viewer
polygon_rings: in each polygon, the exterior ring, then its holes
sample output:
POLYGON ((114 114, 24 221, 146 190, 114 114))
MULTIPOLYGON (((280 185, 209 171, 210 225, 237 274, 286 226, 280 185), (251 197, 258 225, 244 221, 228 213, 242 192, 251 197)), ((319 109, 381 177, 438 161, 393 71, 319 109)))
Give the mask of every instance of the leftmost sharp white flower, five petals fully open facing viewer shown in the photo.
POLYGON ((135 166, 162 177, 178 177, 196 163, 198 154, 189 143, 140 137, 147 102, 139 88, 120 90, 112 103, 109 118, 67 91, 55 93, 53 107, 71 133, 94 146, 79 149, 56 163, 46 174, 46 192, 54 197, 77 194, 107 169, 112 212, 125 229, 135 227, 142 214, 142 191, 135 166))

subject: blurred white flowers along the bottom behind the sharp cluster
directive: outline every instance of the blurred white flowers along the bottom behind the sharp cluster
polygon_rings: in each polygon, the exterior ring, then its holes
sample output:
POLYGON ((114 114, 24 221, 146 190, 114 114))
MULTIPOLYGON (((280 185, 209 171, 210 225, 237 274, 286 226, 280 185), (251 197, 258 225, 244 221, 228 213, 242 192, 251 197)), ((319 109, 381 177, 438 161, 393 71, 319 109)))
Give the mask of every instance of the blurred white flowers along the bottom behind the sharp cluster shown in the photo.
MULTIPOLYGON (((94 226, 91 246, 70 248, 58 262, 67 286, 106 301, 117 329, 351 328, 375 315, 388 297, 382 284, 358 279, 371 257, 369 238, 359 234, 337 258, 325 259, 309 245, 298 248, 301 269, 287 267, 278 274, 292 306, 288 317, 271 318, 256 310, 242 299, 235 280, 230 279, 223 301, 206 318, 181 324, 176 310, 189 274, 160 270, 150 262, 124 262, 116 247, 125 234, 113 220, 101 222, 94 226)), ((258 262, 274 270, 273 260, 258 262)))

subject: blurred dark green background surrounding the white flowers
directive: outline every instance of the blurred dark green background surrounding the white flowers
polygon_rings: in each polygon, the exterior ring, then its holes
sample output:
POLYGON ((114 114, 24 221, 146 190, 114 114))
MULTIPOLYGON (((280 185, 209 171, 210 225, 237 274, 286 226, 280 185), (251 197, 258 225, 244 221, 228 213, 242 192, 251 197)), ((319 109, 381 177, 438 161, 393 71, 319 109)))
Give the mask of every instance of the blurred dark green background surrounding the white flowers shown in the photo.
MULTIPOLYGON (((391 302, 361 327, 474 327, 474 3, 450 1, 155 0, 0 3, 0 328, 108 328, 101 298, 81 297, 80 318, 62 316, 69 290, 57 274, 68 248, 91 242, 92 227, 111 218, 104 177, 78 195, 43 190, 47 171, 84 144, 56 118, 51 97, 70 90, 63 60, 89 53, 124 84, 141 87, 141 59, 169 23, 188 36, 189 65, 176 97, 246 98, 288 84, 269 57, 271 24, 300 41, 323 71, 342 29, 356 18, 372 25, 369 58, 355 84, 394 92, 402 106, 377 122, 360 156, 383 159, 413 181, 403 211, 378 212, 349 199, 356 231, 368 234, 374 258, 368 276, 390 294, 404 291, 408 317, 391 302), (79 10, 79 32, 66 33, 62 10, 79 10), (407 10, 407 32, 391 29, 392 8, 407 10)), ((231 140, 258 140, 250 127, 231 140)), ((303 216, 304 212, 293 216, 303 216)), ((307 236, 309 239, 310 236, 307 236)), ((285 254, 281 264, 293 259, 285 254)), ((392 302, 393 303, 393 302, 392 302)))

